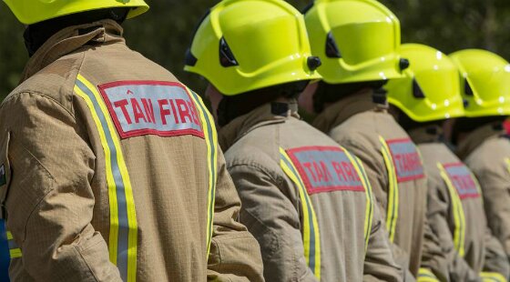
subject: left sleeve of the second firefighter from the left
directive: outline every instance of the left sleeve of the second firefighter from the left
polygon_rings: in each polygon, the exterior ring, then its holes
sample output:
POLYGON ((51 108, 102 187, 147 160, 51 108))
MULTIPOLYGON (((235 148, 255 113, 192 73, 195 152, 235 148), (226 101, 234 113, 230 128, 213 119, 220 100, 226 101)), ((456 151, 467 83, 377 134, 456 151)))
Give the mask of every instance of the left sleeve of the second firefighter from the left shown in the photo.
POLYGON ((303 255, 297 200, 281 190, 289 184, 261 166, 235 165, 229 172, 242 201, 240 221, 260 243, 266 280, 317 281, 303 255))

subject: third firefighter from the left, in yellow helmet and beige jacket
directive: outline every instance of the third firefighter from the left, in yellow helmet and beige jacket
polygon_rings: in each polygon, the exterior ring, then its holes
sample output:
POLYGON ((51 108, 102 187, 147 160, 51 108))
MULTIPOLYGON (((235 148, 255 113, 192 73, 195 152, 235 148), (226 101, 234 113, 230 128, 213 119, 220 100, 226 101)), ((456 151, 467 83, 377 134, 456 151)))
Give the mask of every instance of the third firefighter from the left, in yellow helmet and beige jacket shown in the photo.
MULTIPOLYGON (((301 106, 318 114, 313 126, 361 158, 395 245, 394 254, 416 277, 423 244, 435 246, 439 260, 442 254, 425 220, 422 159, 387 112, 382 89, 409 65, 398 55, 399 21, 373 0, 318 0, 304 13, 311 54, 322 61, 318 70, 322 80, 305 90, 301 106)), ((428 268, 421 271, 434 277, 428 268)))

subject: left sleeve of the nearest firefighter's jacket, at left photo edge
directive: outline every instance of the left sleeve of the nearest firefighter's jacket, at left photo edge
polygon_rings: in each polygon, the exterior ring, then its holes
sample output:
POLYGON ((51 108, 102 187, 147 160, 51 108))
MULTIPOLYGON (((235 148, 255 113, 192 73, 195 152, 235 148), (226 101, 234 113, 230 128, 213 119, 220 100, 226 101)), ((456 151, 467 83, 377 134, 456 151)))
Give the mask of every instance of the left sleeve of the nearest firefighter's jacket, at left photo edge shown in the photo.
POLYGON ((85 129, 55 100, 32 93, 10 96, 0 119, 0 143, 10 137, 2 152, 11 172, 7 227, 23 253, 11 276, 120 281, 105 239, 90 224, 95 156, 85 129))

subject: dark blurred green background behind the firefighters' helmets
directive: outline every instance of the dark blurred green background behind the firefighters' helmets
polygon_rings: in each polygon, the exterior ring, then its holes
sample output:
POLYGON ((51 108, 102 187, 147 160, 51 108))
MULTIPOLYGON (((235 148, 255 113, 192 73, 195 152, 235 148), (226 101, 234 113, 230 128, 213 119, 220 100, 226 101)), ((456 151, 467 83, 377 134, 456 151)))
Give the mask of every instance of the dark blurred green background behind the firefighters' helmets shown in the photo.
MULTIPOLYGON (((182 71, 183 57, 195 25, 218 1, 146 0, 149 12, 125 24, 128 45, 165 66, 179 79, 202 92, 205 82, 182 71)), ((289 0, 298 9, 307 0, 289 0)), ((403 43, 432 45, 445 53, 485 48, 510 58, 508 0, 381 0, 401 20, 403 43)), ((0 99, 17 85, 28 59, 23 25, 5 4, 0 5, 0 99)))

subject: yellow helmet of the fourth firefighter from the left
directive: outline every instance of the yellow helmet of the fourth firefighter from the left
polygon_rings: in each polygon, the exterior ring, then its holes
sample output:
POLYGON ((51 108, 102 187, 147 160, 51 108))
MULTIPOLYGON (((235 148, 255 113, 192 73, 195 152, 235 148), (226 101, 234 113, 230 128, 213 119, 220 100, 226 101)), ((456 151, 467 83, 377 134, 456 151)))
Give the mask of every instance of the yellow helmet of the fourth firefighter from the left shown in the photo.
POLYGON ((402 45, 401 55, 411 65, 385 86, 389 103, 417 122, 464 116, 458 69, 447 55, 419 44, 402 45))

